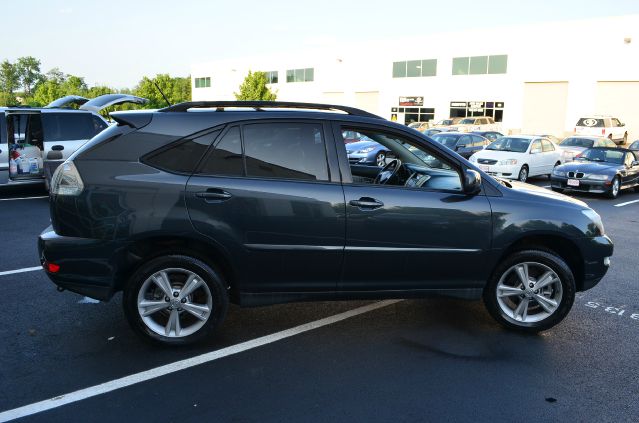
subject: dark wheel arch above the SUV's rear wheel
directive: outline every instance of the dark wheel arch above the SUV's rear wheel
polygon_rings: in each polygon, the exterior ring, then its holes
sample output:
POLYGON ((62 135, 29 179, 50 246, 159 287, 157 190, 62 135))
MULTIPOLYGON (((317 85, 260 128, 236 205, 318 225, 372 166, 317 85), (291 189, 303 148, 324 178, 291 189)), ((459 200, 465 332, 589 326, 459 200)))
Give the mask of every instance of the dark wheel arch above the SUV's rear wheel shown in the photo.
POLYGON ((213 242, 185 236, 151 236, 129 244, 126 251, 127 264, 117 278, 116 290, 124 289, 131 275, 144 263, 171 254, 193 257, 222 273, 231 301, 239 299, 237 272, 228 253, 213 242))

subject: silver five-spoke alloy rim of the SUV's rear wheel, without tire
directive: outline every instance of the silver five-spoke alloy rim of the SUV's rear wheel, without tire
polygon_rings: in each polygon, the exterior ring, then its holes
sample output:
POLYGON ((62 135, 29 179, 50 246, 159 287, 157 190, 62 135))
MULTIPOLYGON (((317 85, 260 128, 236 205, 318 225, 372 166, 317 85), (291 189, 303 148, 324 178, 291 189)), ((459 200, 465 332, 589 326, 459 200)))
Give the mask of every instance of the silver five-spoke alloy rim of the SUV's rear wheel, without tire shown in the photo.
POLYGON ((142 322, 151 331, 181 338, 206 324, 213 310, 213 298, 202 277, 190 270, 169 268, 144 281, 137 306, 142 322))

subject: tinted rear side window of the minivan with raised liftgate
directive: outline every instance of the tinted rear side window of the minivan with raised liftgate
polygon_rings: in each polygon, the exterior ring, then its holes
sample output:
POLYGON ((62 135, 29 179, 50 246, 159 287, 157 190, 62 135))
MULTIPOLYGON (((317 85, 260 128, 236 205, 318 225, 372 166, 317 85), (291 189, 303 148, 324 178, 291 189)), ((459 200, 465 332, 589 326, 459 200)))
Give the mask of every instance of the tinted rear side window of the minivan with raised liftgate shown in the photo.
POLYGON ((91 113, 42 113, 45 141, 88 140, 96 134, 91 113))

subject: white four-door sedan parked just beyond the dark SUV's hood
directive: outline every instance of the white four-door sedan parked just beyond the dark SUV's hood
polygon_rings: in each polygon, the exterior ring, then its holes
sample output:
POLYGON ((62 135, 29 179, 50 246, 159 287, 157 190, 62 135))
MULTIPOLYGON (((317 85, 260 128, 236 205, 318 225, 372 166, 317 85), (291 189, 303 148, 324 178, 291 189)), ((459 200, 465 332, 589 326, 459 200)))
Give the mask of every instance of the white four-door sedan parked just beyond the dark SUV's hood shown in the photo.
POLYGON ((548 138, 510 135, 493 141, 470 161, 489 175, 526 182, 531 176, 550 175, 561 164, 561 151, 548 138))

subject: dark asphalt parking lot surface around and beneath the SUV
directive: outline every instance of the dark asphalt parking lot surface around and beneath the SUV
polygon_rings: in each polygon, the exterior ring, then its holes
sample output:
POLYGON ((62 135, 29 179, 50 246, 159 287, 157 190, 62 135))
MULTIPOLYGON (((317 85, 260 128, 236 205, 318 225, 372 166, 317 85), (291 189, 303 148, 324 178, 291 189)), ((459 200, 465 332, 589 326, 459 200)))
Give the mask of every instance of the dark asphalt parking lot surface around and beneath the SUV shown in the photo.
POLYGON ((375 303, 345 301, 233 306, 217 336, 178 349, 140 341, 120 295, 96 303, 58 293, 42 271, 7 273, 39 265, 35 241, 49 224, 48 200, 25 197, 44 195, 0 192, 0 421, 19 407, 29 422, 639 416, 639 194, 576 195, 602 215, 615 254, 604 280, 579 293, 564 322, 542 334, 501 328, 480 302, 428 299, 261 338, 375 303), (256 339, 264 341, 246 344, 256 339), (192 361, 157 370, 180 360, 192 361))

